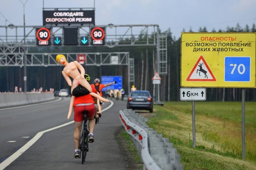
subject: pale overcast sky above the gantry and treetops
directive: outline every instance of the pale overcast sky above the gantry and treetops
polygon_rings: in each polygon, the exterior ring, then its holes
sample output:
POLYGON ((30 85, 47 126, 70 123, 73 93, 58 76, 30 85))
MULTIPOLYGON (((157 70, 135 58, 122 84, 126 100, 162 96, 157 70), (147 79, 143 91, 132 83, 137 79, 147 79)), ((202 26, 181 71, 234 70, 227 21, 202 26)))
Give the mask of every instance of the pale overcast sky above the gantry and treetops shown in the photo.
MULTIPOLYGON (((0 25, 23 25, 23 4, 27 0, 0 0, 0 25)), ((95 24, 159 24, 162 31, 171 28, 176 38, 181 31, 208 32, 227 26, 242 28, 256 23, 256 0, 28 0, 25 4, 26 25, 42 25, 45 8, 93 8, 95 24)))

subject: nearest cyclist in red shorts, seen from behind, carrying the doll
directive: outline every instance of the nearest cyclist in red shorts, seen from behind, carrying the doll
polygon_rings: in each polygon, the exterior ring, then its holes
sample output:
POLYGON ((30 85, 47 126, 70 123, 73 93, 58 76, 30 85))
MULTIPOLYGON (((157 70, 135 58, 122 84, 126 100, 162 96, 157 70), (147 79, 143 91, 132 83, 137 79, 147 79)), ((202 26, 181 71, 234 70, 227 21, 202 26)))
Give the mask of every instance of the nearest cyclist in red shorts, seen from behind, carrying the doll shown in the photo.
MULTIPOLYGON (((85 77, 86 78, 86 77, 85 77)), ((88 81, 90 77, 87 77, 86 80, 88 81)), ((92 92, 97 93, 97 90, 92 87, 92 92)), ((69 105, 69 112, 67 119, 70 118, 72 114, 72 109, 74 109, 74 121, 75 121, 75 131, 74 131, 74 144, 75 144, 75 150, 74 150, 74 157, 79 158, 80 151, 78 150, 79 146, 79 140, 80 140, 80 132, 82 129, 82 122, 83 122, 83 111, 87 110, 88 114, 88 128, 89 128, 89 142, 94 141, 93 136, 93 130, 95 128, 95 121, 94 118, 98 118, 97 115, 97 98, 91 96, 88 93, 88 90, 84 88, 83 86, 77 86, 73 89, 73 94, 75 95, 81 95, 81 96, 71 96, 70 99, 70 105, 69 105)))

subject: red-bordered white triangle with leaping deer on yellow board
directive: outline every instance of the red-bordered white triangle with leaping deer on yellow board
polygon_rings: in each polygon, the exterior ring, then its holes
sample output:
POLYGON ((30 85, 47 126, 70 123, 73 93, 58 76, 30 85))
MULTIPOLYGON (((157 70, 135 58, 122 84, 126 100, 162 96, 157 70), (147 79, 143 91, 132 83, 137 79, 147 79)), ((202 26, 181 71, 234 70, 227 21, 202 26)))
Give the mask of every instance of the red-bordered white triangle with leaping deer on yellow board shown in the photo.
POLYGON ((201 55, 195 63, 195 66, 190 71, 187 81, 216 81, 210 67, 201 55))

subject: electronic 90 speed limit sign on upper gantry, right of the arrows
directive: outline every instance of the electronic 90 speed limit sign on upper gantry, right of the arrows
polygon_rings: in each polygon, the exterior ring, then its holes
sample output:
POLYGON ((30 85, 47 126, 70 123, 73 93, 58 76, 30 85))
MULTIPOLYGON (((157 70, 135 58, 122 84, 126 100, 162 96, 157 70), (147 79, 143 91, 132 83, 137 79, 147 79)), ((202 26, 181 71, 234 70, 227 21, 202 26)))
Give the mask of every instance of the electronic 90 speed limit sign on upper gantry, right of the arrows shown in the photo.
POLYGON ((93 45, 105 44, 105 27, 91 28, 91 44, 93 45))

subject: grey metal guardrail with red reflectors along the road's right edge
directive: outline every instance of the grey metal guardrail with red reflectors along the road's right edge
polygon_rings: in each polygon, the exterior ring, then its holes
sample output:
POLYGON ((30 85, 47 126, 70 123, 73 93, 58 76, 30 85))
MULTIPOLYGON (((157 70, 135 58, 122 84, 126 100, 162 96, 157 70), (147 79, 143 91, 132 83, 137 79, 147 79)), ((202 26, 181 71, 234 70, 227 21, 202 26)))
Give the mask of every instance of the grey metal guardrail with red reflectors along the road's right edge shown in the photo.
POLYGON ((132 109, 119 111, 119 118, 127 133, 132 137, 144 163, 143 169, 183 169, 180 163, 180 154, 169 138, 158 134, 147 125, 147 118, 134 112, 132 109))

